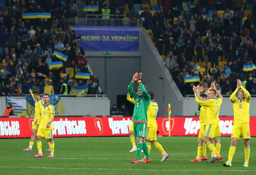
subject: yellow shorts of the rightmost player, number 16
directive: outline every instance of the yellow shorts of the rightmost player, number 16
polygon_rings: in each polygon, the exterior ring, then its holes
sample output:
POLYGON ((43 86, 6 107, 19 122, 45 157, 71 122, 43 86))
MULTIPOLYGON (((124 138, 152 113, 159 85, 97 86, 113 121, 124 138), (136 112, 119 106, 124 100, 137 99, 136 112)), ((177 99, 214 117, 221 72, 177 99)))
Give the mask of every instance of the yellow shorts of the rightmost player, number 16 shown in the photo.
POLYGON ((236 138, 239 141, 241 134, 243 140, 250 139, 250 123, 237 123, 233 125, 231 138, 236 138))

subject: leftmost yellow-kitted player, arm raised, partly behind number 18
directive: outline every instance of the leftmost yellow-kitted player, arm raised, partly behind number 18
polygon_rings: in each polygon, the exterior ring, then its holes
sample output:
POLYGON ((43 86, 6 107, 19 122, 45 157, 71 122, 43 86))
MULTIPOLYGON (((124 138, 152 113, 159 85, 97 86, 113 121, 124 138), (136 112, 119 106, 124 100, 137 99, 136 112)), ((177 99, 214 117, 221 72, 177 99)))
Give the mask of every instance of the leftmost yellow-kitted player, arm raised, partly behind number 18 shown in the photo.
MULTIPOLYGON (((44 101, 40 97, 40 93, 38 91, 32 92, 32 90, 29 89, 29 93, 32 95, 33 99, 35 100, 35 118, 34 118, 33 125, 32 125, 32 133, 31 133, 31 138, 29 141, 29 147, 27 147, 26 149, 23 149, 23 151, 32 151, 32 147, 33 147, 34 141, 35 141, 35 134, 36 134, 36 131, 38 130, 36 124, 38 122, 38 117, 40 114, 40 107, 44 103, 44 101)), ((51 150, 50 142, 48 140, 47 140, 47 143, 49 145, 49 148, 47 149, 47 151, 50 151, 51 150)))

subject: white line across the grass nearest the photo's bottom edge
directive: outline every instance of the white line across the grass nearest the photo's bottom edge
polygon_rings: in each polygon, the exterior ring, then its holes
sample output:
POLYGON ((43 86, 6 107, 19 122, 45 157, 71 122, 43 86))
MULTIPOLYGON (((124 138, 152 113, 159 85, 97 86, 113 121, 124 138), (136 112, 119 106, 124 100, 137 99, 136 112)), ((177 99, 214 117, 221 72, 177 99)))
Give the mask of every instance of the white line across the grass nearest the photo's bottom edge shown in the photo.
MULTIPOLYGON (((63 167, 33 167, 33 166, 0 166, 0 168, 32 168, 32 169, 82 169, 82 170, 111 170, 111 171, 163 171, 163 172, 184 172, 184 171, 194 171, 194 172, 201 172, 201 171, 209 171, 209 169, 107 169, 107 168, 63 168, 63 167)), ((212 169, 211 171, 215 172, 256 172, 256 170, 216 170, 212 169)))

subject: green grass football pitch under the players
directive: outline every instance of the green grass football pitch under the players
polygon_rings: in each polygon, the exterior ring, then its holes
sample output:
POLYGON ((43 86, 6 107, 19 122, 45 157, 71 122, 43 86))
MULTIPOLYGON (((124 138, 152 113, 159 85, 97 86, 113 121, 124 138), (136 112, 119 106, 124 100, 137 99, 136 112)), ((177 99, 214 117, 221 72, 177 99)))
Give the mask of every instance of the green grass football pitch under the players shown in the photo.
MULTIPOLYGON (((221 155, 223 160, 208 164, 190 162, 197 155, 197 137, 158 137, 159 143, 169 153, 165 162, 160 162, 162 155, 154 146, 151 147, 151 163, 131 164, 136 152, 129 152, 129 137, 108 138, 54 138, 55 158, 48 158, 50 152, 42 140, 43 158, 34 158, 38 153, 36 142, 33 151, 22 149, 29 144, 29 139, 1 139, 0 174, 1 175, 205 175, 205 174, 256 174, 256 140, 250 141, 249 167, 244 168, 244 145, 239 141, 232 167, 224 167, 230 147, 230 137, 221 138, 221 155), (143 170, 145 172, 143 172, 143 170)), ((208 151, 208 149, 207 149, 208 151)), ((208 151, 208 158, 210 154, 208 151)), ((144 154, 141 154, 143 158, 144 154)))

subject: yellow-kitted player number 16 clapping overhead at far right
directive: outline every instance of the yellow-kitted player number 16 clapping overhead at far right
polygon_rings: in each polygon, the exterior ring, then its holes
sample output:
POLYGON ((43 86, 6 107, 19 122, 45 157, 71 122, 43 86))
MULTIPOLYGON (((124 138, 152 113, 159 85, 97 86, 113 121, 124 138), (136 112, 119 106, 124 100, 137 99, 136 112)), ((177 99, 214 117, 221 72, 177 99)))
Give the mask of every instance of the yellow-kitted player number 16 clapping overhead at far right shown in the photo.
POLYGON ((231 134, 231 146, 228 153, 228 161, 223 165, 231 167, 231 161, 236 152, 236 144, 239 141, 240 134, 242 134, 244 140, 244 167, 249 165, 250 157, 250 93, 242 86, 241 80, 237 80, 238 84, 236 90, 230 96, 230 100, 233 103, 234 110, 234 126, 231 134), (236 97, 236 93, 238 96, 236 97))

